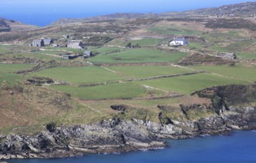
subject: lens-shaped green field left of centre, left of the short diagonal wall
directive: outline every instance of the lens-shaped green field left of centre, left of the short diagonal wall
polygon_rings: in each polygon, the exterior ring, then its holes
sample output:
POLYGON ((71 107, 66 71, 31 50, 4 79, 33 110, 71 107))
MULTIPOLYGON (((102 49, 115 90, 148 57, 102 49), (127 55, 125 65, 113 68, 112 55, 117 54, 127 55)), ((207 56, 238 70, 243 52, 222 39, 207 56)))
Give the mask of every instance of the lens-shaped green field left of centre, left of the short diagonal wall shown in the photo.
POLYGON ((30 73, 29 76, 42 76, 61 82, 77 84, 108 82, 123 79, 115 73, 104 70, 101 67, 54 67, 36 73, 30 73))

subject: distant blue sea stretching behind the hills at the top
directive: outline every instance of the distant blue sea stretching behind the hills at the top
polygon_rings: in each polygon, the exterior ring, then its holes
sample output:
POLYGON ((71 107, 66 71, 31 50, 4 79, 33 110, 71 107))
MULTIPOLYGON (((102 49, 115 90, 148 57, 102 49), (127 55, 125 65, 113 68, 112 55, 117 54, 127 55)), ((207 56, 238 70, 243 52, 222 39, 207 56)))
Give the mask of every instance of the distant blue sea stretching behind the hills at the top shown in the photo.
MULTIPOLYGON (((253 0, 247 0, 253 1, 253 0)), ((220 7, 225 4, 245 2, 243 0, 225 1, 135 1, 129 3, 117 0, 74 0, 69 3, 65 0, 45 1, 0 1, 0 18, 20 21, 25 24, 47 26, 58 19, 80 19, 92 16, 103 16, 112 13, 166 13, 182 12, 185 10, 196 10, 206 7, 220 7), (186 5, 185 5, 186 4, 186 5)))

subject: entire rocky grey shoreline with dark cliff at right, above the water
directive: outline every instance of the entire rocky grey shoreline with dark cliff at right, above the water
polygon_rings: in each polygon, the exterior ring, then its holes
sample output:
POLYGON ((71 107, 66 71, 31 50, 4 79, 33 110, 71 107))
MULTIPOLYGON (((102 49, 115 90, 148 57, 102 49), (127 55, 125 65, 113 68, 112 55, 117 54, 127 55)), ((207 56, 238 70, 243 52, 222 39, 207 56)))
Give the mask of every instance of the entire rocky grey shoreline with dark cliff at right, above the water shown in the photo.
MULTIPOLYGON (((82 156, 85 153, 123 153, 166 147, 162 138, 188 139, 217 135, 231 130, 255 130, 256 86, 212 87, 193 93, 211 99, 209 106, 181 105, 184 119, 166 116, 167 106, 159 106, 159 123, 141 119, 109 119, 97 124, 48 127, 35 136, 0 136, 0 159, 48 159, 82 156), (237 93, 241 96, 237 96, 237 93), (242 96, 243 95, 243 96, 242 96), (190 119, 190 113, 208 113, 190 119)), ((121 111, 125 112, 125 108, 121 111)))

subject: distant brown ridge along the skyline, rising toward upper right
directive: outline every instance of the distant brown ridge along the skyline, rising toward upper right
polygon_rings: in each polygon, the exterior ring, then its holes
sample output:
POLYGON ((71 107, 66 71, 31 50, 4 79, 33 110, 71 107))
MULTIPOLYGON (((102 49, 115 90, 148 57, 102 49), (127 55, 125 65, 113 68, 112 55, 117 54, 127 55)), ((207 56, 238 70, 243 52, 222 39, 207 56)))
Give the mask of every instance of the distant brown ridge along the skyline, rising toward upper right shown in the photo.
POLYGON ((256 15, 256 1, 240 4, 231 4, 214 8, 203 8, 199 10, 188 10, 185 12, 170 13, 113 13, 104 16, 93 16, 84 19, 58 19, 51 25, 82 23, 88 21, 106 21, 109 19, 138 19, 138 18, 179 18, 191 16, 238 16, 247 17, 256 15))

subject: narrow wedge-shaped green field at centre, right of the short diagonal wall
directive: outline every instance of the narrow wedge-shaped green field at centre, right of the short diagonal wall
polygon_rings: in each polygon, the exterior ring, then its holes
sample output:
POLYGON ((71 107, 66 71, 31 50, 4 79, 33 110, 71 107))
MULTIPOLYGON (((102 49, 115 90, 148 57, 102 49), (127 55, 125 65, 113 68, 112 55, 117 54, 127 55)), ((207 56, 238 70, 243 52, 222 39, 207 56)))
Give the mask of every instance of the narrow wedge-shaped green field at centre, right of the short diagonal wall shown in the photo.
POLYGON ((132 78, 146 78, 192 72, 192 70, 172 66, 112 66, 108 68, 114 70, 118 75, 132 78))

